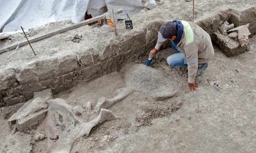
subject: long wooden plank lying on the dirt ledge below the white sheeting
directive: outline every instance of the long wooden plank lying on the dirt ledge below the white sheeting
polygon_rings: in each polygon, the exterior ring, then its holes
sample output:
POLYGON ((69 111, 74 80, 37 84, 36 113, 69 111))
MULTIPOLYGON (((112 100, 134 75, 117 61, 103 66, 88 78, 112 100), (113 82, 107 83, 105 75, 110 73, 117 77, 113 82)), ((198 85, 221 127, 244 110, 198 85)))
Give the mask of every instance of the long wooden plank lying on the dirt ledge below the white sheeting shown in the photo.
MULTIPOLYGON (((123 10, 119 9, 117 11, 117 14, 120 14, 122 12, 123 12, 123 10)), ((37 37, 31 38, 31 39, 29 39, 29 41, 30 41, 30 43, 32 43, 32 42, 36 42, 38 40, 42 40, 42 39, 54 36, 54 35, 59 34, 59 33, 64 33, 64 32, 66 32, 68 30, 72 30, 72 29, 78 28, 80 26, 88 25, 89 23, 101 20, 101 19, 103 19, 103 17, 104 17, 104 15, 100 15, 100 16, 97 16, 97 17, 94 17, 94 18, 90 18, 90 19, 81 21, 79 23, 76 23, 74 25, 70 25, 69 27, 66 27, 66 28, 63 28, 63 29, 60 29, 60 30, 57 30, 57 31, 54 31, 54 32, 51 32, 51 33, 47 33, 45 35, 41 35, 41 36, 37 36, 37 37)), ((27 44, 28 44, 27 40, 19 42, 19 47, 27 45, 27 44)), ((17 46, 18 46, 18 44, 2 48, 2 49, 0 49, 0 54, 6 52, 8 50, 12 50, 12 49, 16 48, 17 46)))

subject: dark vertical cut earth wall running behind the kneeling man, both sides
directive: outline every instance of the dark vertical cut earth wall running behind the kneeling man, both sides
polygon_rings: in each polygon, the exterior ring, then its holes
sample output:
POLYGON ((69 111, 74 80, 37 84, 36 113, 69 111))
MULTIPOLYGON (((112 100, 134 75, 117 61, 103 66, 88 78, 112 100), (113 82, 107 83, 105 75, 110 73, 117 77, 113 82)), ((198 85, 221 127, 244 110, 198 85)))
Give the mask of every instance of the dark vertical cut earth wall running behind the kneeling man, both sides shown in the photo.
MULTIPOLYGON (((235 47, 230 47, 227 41, 234 40, 227 40, 226 37, 223 39, 216 34, 224 21, 233 23, 235 27, 249 23, 248 29, 252 37, 256 33, 256 7, 243 11, 228 9, 196 22, 210 34, 213 44, 228 57, 248 51, 249 46, 241 47, 237 45, 238 42, 234 42, 235 47)), ((51 88, 54 94, 58 94, 81 81, 87 82, 119 71, 123 65, 134 62, 154 47, 157 31, 163 22, 164 20, 153 20, 140 31, 122 33, 118 39, 102 44, 105 45, 103 51, 98 53, 91 53, 91 49, 88 49, 78 55, 36 61, 22 69, 15 67, 4 69, 0 73, 0 107, 28 101, 33 98, 34 92, 51 88)), ((168 43, 163 48, 167 46, 168 43)))

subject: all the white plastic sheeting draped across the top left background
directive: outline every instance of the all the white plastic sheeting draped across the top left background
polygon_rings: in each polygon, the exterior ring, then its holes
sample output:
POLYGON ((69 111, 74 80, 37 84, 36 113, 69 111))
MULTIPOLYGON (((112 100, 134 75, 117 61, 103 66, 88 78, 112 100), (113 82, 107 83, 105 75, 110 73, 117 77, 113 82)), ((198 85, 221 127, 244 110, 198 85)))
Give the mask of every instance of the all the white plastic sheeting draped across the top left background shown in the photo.
MULTIPOLYGON (((129 15, 143 8, 152 9, 154 0, 0 0, 0 29, 3 32, 21 31, 21 26, 45 25, 70 18, 74 23, 84 20, 85 12, 93 17, 108 9, 123 9, 129 15)), ((118 19, 125 19, 124 13, 118 19)), ((3 33, 2 33, 3 34, 3 33)))

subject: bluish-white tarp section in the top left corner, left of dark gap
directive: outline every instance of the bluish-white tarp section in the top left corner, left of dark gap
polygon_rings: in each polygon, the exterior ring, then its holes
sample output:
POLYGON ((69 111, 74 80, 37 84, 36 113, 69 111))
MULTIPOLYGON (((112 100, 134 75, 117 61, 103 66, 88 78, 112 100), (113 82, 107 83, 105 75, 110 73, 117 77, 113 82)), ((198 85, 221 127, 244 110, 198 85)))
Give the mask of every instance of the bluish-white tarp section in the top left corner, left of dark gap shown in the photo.
POLYGON ((0 29, 21 30, 70 18, 84 20, 89 0, 0 0, 0 29))

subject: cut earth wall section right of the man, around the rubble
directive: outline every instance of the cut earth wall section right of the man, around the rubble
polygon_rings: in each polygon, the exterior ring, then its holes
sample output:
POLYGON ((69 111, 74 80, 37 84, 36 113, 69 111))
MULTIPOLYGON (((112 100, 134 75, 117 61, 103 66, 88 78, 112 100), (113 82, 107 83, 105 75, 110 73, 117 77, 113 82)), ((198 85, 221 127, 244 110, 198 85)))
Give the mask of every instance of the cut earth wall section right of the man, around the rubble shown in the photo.
POLYGON ((219 27, 224 23, 224 21, 234 24, 235 27, 250 24, 248 29, 251 35, 249 37, 252 37, 256 33, 255 7, 243 11, 237 11, 234 9, 221 11, 219 14, 213 17, 206 18, 196 23, 210 34, 213 44, 219 47, 227 57, 239 55, 249 51, 249 44, 242 47, 238 41, 235 41, 232 38, 229 38, 227 35, 223 35, 219 32, 219 27))

